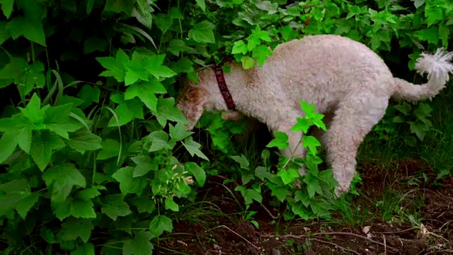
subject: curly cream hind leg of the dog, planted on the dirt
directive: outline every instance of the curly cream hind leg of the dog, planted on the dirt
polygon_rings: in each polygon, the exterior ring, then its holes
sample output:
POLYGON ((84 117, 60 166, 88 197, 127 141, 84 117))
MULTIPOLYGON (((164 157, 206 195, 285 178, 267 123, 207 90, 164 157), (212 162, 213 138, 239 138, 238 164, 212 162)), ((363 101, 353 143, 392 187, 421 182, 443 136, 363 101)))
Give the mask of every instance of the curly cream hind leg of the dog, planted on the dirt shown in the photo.
POLYGON ((338 103, 327 135, 327 161, 338 181, 336 196, 349 191, 357 149, 384 116, 389 97, 379 91, 355 91, 338 103))

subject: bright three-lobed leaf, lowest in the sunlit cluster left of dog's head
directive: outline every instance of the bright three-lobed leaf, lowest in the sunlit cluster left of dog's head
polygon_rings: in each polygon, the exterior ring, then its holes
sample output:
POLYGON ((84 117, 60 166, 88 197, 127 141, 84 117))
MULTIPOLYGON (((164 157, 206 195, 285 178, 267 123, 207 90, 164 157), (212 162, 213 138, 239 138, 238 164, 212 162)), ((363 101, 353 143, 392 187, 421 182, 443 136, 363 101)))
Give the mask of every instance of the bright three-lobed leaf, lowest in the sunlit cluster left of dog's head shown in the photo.
POLYGON ((132 84, 127 88, 125 93, 125 100, 138 97, 151 111, 157 111, 157 98, 155 94, 165 94, 167 91, 156 79, 151 81, 142 81, 132 84))

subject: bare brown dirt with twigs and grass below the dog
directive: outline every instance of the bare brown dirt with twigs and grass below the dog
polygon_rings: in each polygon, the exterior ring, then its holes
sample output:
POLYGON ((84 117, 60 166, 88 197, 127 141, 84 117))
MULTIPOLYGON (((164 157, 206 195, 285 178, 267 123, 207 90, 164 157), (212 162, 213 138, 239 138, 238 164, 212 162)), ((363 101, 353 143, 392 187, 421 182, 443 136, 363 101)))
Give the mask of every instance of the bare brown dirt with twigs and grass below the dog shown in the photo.
MULTIPOLYGON (((442 180, 442 185, 428 186, 421 181, 411 186, 409 180, 420 173, 428 174, 433 183, 435 176, 430 169, 416 161, 398 162, 394 171, 384 171, 373 164, 360 167, 363 196, 354 198, 352 205, 363 205, 363 200, 374 201, 366 205, 377 217, 369 217, 360 226, 351 226, 342 221, 340 214, 331 222, 292 222, 273 219, 263 208, 251 208, 258 213, 254 219, 256 229, 249 222, 241 221, 241 208, 229 191, 222 188, 222 179, 210 177, 207 186, 200 191, 200 199, 212 201, 222 213, 206 213, 199 221, 180 220, 174 225, 174 233, 155 246, 156 254, 200 254, 200 255, 277 255, 280 254, 453 254, 453 179, 442 180), (220 187, 220 188, 219 188, 220 187), (375 201, 382 200, 382 191, 401 191, 410 199, 403 201, 403 212, 418 212, 422 225, 414 227, 408 220, 396 217, 383 222, 375 201), (411 208, 411 201, 420 200, 422 208, 411 208), (236 214, 236 215, 234 215, 236 214), (229 216, 227 216, 229 215, 229 216), (363 228, 370 227, 369 236, 363 228), (280 230, 279 230, 280 229, 280 230), (276 234, 280 232, 280 235, 276 234), (310 234, 309 234, 310 233, 310 234), (328 233, 328 234, 326 234, 328 233)), ((228 186, 228 185, 226 185, 228 186)), ((234 189, 234 184, 229 186, 234 189)), ((234 191, 233 191, 234 192, 234 191)), ((239 196, 238 196, 239 197, 239 196)), ((277 209, 266 205, 274 215, 277 209)), ((402 212, 402 213, 403 213, 402 212)), ((406 217, 407 219, 407 217, 406 217)))

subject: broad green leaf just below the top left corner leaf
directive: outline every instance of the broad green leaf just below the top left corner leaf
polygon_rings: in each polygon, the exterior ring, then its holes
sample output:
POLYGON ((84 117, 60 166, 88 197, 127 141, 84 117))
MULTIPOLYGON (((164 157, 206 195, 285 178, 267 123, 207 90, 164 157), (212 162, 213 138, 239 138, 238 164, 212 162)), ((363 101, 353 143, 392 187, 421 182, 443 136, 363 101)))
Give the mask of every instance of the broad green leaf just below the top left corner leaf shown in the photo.
POLYGON ((32 42, 37 42, 44 47, 47 46, 45 44, 44 28, 42 27, 42 22, 38 18, 28 18, 21 16, 13 18, 8 22, 8 24, 6 24, 6 29, 8 29, 11 37, 14 40, 23 35, 23 37, 32 42))

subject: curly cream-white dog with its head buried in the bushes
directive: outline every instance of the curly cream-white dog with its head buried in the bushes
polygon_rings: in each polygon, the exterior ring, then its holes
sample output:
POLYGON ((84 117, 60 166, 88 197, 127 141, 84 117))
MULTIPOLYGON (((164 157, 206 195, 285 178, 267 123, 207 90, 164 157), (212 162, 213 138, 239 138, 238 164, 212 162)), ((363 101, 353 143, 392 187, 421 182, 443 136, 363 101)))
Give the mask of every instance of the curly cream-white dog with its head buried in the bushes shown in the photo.
MULTIPOLYGON (((338 35, 307 35, 277 46, 263 67, 242 69, 236 62, 227 63, 231 72, 224 78, 236 111, 287 133, 289 148, 282 151, 287 157, 304 157, 303 147, 297 146, 301 132, 290 132, 297 117, 304 115, 301 100, 331 116, 325 120, 328 134, 321 142, 340 195, 349 190, 355 175, 357 148, 384 116, 389 98, 419 101, 436 96, 453 72, 452 57, 453 52, 442 49, 435 55, 422 54, 415 68, 428 73, 428 83, 418 86, 393 77, 384 61, 360 42, 338 35)), ((226 111, 226 118, 236 118, 214 71, 201 69, 198 78, 198 85, 185 81, 178 100, 178 108, 192 123, 188 128, 203 111, 226 111)), ((303 175, 304 169, 299 173, 303 175)))

